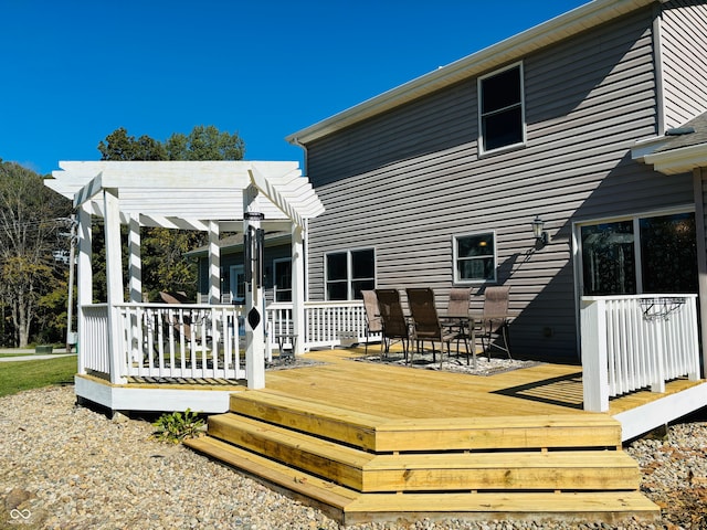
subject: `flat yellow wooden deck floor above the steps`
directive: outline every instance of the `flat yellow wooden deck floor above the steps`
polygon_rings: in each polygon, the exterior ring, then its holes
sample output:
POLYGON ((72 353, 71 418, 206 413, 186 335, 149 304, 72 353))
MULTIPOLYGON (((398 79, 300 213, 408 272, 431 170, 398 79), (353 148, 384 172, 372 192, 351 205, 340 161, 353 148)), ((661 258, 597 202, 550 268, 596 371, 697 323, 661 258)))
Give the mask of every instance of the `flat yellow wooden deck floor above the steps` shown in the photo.
MULTIPOLYGON (((351 354, 347 358, 340 353, 313 352, 308 357, 324 364, 268 372, 266 390, 389 418, 493 417, 500 411, 513 411, 513 415, 578 411, 576 399, 568 398, 564 404, 560 399, 544 403, 503 392, 547 380, 574 379, 579 367, 539 364, 481 377, 357 362, 351 354)), ((581 395, 581 383, 576 386, 581 395)))

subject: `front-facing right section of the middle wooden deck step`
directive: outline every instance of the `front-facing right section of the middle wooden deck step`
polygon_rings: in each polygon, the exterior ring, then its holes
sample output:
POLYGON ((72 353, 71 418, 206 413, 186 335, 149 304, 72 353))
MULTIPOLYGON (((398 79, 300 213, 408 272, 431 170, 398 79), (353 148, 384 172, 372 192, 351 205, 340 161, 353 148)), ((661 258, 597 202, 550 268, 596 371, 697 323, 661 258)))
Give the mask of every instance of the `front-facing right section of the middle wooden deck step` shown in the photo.
POLYGON ((616 451, 379 455, 362 491, 636 490, 637 463, 616 451))

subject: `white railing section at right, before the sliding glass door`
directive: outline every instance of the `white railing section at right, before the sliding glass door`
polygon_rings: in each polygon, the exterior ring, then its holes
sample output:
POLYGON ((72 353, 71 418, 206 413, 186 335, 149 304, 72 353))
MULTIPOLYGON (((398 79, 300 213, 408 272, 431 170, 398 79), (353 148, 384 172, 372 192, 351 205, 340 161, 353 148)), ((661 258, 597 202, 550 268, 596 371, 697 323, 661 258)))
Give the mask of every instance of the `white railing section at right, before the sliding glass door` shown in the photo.
POLYGON ((609 399, 680 377, 699 379, 697 295, 582 298, 584 409, 609 410, 609 399))

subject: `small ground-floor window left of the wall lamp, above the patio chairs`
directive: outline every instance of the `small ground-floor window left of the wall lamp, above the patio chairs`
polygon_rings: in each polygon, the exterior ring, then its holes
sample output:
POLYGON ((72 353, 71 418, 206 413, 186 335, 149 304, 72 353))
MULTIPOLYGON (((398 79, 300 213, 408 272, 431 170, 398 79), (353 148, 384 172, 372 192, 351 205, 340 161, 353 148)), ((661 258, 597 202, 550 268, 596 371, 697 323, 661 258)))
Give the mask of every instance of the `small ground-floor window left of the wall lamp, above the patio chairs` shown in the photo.
POLYGON ((496 280, 496 236, 493 232, 454 236, 454 283, 496 280))

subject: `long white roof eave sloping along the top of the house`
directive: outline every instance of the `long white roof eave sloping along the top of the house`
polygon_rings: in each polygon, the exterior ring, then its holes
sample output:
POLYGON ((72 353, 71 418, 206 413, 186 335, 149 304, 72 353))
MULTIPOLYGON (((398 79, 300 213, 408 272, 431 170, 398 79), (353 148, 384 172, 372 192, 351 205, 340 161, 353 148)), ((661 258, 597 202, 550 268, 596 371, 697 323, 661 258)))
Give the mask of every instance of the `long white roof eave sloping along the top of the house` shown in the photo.
POLYGON ((292 145, 304 146, 312 140, 395 108, 462 80, 481 75, 495 67, 518 61, 536 50, 560 42, 656 1, 594 0, 300 129, 286 136, 285 140, 292 145))

